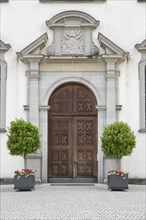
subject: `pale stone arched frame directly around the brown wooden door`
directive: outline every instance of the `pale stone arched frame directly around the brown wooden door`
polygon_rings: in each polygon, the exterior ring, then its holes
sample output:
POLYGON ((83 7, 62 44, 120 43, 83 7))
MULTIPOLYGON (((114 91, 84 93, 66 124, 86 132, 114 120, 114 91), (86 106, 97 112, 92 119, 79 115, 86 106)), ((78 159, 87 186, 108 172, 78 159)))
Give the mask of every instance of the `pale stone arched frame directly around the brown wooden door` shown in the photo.
MULTIPOLYGON (((89 71, 90 73, 90 71, 89 71)), ((97 73, 93 71, 93 74, 97 73)), ((72 72, 69 71, 67 74, 71 75, 72 72)), ((103 151, 101 149, 101 141, 100 136, 102 135, 103 128, 106 124, 106 108, 103 99, 103 95, 98 90, 96 86, 96 82, 91 82, 83 77, 80 77, 81 72, 77 71, 77 76, 66 76, 62 77, 61 79, 58 78, 45 91, 45 95, 43 96, 42 103, 43 106, 40 108, 40 133, 43 134, 41 137, 41 144, 42 148, 40 150, 42 155, 41 160, 41 180, 44 183, 48 182, 48 111, 50 110, 50 106, 48 106, 48 100, 50 99, 52 93, 56 90, 57 87, 65 84, 65 83, 72 83, 72 82, 79 82, 85 86, 87 86, 95 95, 98 105, 96 106, 97 114, 98 114, 98 121, 97 121, 97 130, 98 130, 98 138, 97 138, 97 145, 98 145, 98 183, 103 183, 103 151)), ((90 73, 92 74, 92 72, 90 73)), ((104 93, 103 93, 104 94, 104 93)))

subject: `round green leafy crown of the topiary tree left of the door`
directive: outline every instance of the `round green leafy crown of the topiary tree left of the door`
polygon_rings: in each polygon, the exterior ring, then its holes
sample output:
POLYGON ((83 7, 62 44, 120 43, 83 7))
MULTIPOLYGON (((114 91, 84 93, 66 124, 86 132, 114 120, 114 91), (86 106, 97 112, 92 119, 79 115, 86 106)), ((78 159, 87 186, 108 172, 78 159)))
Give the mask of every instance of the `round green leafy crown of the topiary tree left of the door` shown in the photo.
POLYGON ((16 119, 10 123, 7 136, 7 147, 11 155, 25 157, 29 153, 36 152, 40 147, 38 128, 23 119, 16 119))

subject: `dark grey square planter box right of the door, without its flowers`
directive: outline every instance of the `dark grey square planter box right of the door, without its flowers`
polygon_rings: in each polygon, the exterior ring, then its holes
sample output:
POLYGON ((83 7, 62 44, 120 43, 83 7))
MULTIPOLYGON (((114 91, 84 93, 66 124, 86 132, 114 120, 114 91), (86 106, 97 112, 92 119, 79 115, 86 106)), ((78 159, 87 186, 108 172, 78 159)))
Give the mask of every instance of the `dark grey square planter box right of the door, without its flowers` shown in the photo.
POLYGON ((128 189, 128 174, 124 176, 120 175, 110 175, 108 176, 108 188, 110 190, 117 189, 117 190, 126 190, 128 189))

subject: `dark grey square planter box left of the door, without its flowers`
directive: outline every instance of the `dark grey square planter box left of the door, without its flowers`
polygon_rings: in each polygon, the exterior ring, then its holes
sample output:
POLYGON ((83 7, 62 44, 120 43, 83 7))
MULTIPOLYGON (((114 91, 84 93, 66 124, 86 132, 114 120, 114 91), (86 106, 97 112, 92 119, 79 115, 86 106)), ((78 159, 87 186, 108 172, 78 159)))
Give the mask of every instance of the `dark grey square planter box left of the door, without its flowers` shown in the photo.
POLYGON ((15 190, 34 190, 35 189, 35 176, 34 175, 14 176, 14 189, 15 190))

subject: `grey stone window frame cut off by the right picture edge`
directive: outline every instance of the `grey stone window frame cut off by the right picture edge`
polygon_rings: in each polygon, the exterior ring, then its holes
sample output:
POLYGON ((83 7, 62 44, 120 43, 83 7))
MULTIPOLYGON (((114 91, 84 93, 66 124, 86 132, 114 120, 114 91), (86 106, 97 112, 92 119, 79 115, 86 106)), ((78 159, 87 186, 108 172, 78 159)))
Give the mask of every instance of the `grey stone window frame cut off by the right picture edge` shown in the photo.
POLYGON ((141 53, 141 60, 138 64, 140 110, 139 132, 146 132, 146 39, 141 44, 136 44, 135 47, 141 53))

